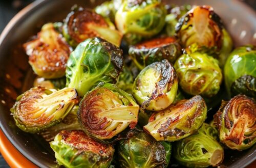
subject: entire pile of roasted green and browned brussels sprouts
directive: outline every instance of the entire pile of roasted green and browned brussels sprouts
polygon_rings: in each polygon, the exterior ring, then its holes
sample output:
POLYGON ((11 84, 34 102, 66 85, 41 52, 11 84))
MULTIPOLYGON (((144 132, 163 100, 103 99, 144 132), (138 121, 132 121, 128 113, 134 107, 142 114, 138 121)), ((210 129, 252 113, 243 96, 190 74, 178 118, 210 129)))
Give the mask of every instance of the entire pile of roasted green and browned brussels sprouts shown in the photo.
POLYGON ((233 49, 209 6, 74 6, 24 49, 37 77, 11 112, 60 165, 218 166, 256 143, 256 47, 233 49))

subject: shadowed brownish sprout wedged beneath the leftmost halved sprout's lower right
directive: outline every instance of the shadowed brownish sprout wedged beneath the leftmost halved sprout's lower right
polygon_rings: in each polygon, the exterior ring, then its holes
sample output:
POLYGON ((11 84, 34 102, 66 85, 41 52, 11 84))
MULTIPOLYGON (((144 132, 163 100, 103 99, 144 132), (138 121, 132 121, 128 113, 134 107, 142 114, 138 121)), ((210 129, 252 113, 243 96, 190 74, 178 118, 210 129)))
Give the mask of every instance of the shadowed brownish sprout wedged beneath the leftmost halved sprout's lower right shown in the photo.
POLYGON ((54 137, 62 130, 80 130, 77 119, 78 105, 75 105, 70 113, 57 125, 42 130, 39 134, 47 141, 53 141, 54 137))

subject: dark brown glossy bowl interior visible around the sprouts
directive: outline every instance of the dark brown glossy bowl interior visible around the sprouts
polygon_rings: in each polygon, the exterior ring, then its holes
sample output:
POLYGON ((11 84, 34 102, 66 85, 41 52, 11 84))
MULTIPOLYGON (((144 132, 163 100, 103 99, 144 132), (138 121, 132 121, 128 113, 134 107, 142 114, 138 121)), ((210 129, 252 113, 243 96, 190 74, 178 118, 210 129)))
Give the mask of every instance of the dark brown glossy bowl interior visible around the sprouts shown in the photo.
MULTIPOLYGON (((37 134, 29 134, 19 130, 10 107, 17 95, 32 86, 33 72, 28 64, 28 57, 22 44, 36 35, 42 24, 62 21, 74 4, 93 8, 103 1, 55 0, 36 1, 18 13, 0 37, 0 126, 11 143, 25 157, 39 167, 55 167, 55 157, 49 143, 37 134)), ((230 0, 198 0, 198 1, 164 1, 183 5, 211 5, 223 19, 236 46, 256 44, 256 14, 239 1, 230 0)), ((223 165, 228 167, 244 167, 256 159, 256 146, 243 152, 227 150, 223 165)), ((173 164, 172 166, 178 166, 173 164)))

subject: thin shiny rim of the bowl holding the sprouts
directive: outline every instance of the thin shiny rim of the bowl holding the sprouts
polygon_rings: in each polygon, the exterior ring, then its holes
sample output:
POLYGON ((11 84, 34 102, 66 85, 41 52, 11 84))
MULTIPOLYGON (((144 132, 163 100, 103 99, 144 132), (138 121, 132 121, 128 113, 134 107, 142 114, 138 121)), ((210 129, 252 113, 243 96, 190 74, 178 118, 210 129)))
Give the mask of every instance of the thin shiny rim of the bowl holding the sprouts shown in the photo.
MULTIPOLYGON (((9 35, 10 31, 12 29, 16 29, 16 24, 18 24, 22 19, 25 19, 29 14, 33 13, 35 10, 38 8, 41 8, 41 6, 44 6, 47 3, 50 3, 51 0, 37 0, 26 6, 24 9, 20 10, 10 21, 9 23, 5 26, 3 32, 0 35, 0 46, 2 43, 6 40, 6 37, 9 35)), ((242 8, 246 9, 248 13, 251 13, 252 15, 254 14, 256 16, 256 11, 254 11, 250 6, 246 5, 243 2, 236 1, 238 6, 241 6, 242 8)), ((29 153, 23 153, 23 149, 14 141, 14 139, 11 137, 11 134, 8 133, 8 131, 5 129, 5 127, 2 124, 3 120, 0 120, 0 129, 3 131, 4 135, 8 138, 8 140, 11 142, 11 144, 22 154, 25 156, 29 161, 34 163, 35 165, 39 167, 45 167, 46 165, 42 164, 41 162, 37 161, 29 153)), ((243 165, 241 162, 238 162, 235 167, 246 167, 250 163, 252 163, 254 160, 256 160, 256 155, 255 151, 247 156, 246 158, 243 158, 243 161, 245 162, 243 165)), ((231 164, 230 167, 234 167, 233 164, 231 164)))

